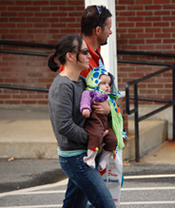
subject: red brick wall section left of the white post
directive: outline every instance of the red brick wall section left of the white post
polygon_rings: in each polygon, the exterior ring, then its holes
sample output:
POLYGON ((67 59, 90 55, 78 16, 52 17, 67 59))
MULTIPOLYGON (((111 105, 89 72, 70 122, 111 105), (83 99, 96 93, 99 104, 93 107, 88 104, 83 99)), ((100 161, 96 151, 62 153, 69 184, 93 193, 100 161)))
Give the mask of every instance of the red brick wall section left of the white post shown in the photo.
MULTIPOLYGON (((0 0, 0 39, 56 44, 80 32, 84 0, 0 0)), ((43 48, 0 45, 0 49, 51 53, 43 48)), ((0 54, 0 84, 49 88, 56 73, 47 57, 0 54)), ((47 93, 0 89, 0 105, 47 104, 47 93)))

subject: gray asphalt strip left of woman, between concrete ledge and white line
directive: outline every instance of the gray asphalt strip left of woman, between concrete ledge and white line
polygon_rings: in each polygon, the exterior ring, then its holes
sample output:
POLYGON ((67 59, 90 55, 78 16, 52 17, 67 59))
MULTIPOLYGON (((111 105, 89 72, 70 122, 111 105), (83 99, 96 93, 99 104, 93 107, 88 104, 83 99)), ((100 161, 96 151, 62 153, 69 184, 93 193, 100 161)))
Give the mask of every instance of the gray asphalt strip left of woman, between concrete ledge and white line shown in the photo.
POLYGON ((65 178, 58 159, 0 159, 0 193, 54 183, 65 178))

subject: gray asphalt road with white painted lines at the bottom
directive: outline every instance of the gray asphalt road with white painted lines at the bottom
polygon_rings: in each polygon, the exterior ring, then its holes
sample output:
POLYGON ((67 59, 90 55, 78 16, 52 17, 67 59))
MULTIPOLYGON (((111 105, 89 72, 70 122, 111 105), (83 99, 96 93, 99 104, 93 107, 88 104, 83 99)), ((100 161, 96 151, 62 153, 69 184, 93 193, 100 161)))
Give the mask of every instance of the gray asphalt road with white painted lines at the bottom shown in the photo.
MULTIPOLYGON (((174 208, 175 165, 124 166, 121 208, 174 208)), ((0 208, 62 207, 67 180, 0 194, 0 208)))

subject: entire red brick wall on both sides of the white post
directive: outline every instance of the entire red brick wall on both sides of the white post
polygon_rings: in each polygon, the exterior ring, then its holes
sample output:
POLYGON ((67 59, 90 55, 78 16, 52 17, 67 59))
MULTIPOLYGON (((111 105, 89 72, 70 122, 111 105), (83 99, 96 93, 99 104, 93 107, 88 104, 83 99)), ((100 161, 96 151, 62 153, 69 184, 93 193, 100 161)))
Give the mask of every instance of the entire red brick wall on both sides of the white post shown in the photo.
MULTIPOLYGON (((56 44, 69 33, 80 32, 84 0, 0 1, 0 39, 56 44)), ((175 0, 116 0, 117 48, 174 53, 175 0)), ((41 48, 0 45, 1 49, 50 53, 41 48)), ((126 56, 118 59, 174 62, 173 58, 126 56)), ((131 80, 163 67, 119 64, 119 89, 131 80)), ((1 53, 0 83, 49 88, 56 73, 47 67, 47 58, 1 53)), ((141 96, 170 98, 171 72, 139 85, 141 96)), ((47 104, 47 93, 0 89, 0 104, 47 104)))

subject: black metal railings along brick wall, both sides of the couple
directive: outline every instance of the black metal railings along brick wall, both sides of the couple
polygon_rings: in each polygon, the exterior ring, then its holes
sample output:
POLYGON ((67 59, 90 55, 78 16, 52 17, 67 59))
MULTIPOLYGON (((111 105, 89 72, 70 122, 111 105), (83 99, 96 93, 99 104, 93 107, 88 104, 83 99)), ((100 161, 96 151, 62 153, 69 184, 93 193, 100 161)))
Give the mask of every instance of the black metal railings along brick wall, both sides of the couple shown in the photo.
MULTIPOLYGON (((18 42, 18 41, 8 41, 8 40, 0 40, 1 45, 14 45, 14 46, 27 46, 27 47, 39 47, 39 48, 47 48, 47 49, 53 49, 55 48, 55 45, 52 44, 40 44, 40 43, 28 43, 28 42, 18 42)), ((44 56, 47 57, 48 53, 39 53, 39 52, 31 52, 31 51, 19 51, 19 50, 5 50, 0 49, 0 53, 11 53, 11 54, 20 54, 20 55, 30 55, 30 56, 44 56)), ((125 50, 117 50, 118 54, 127 54, 127 55, 144 55, 144 56, 160 56, 160 57, 175 57, 175 54, 169 54, 169 53, 155 53, 155 52, 142 52, 142 51, 125 51, 125 50)), ((131 115, 132 113, 135 114, 135 155, 136 155, 136 161, 140 161, 140 155, 139 155, 139 122, 162 111, 166 108, 173 106, 173 140, 175 141, 175 65, 171 63, 160 63, 160 62, 150 62, 150 61, 136 61, 136 60, 123 60, 118 59, 118 63, 130 63, 130 64, 142 64, 142 65, 154 65, 154 66, 167 66, 167 68, 161 69, 155 73, 149 74, 145 77, 139 78, 137 80, 128 82, 126 84, 126 112, 127 114, 131 115), (166 71, 173 70, 173 99, 167 100, 167 99, 153 99, 153 98, 142 98, 138 97, 138 84, 144 80, 147 80, 149 78, 152 78, 158 74, 164 73, 166 71), (129 94, 129 88, 130 86, 134 86, 134 96, 130 96, 129 94), (130 100, 134 100, 134 108, 130 110, 130 100), (162 102, 162 103, 168 103, 167 105, 160 107, 157 110, 154 110, 144 116, 139 117, 138 115, 138 101, 155 101, 155 102, 162 102)), ((6 89, 14 89, 14 90, 29 90, 29 91, 39 91, 39 92, 48 92, 48 89, 43 88, 34 88, 34 87, 22 87, 22 86, 7 86, 7 85, 0 85, 0 88, 6 88, 6 89)))

